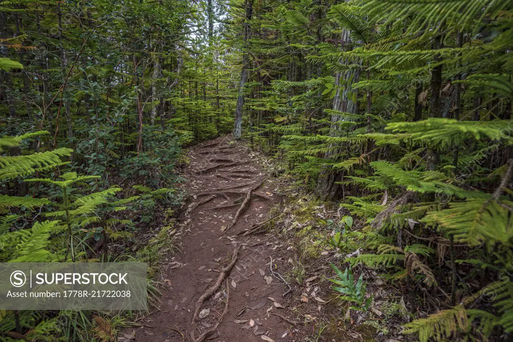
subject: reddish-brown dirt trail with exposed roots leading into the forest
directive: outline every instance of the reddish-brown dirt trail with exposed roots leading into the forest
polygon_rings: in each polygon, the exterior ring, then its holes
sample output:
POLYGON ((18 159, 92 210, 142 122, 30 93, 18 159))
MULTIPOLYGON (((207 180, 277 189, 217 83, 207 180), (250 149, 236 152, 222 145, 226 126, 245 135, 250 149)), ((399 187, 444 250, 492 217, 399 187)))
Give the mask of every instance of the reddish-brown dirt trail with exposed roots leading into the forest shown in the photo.
POLYGON ((272 179, 266 179, 242 144, 230 144, 228 137, 194 147, 190 159, 186 186, 193 200, 181 217, 180 251, 163 264, 160 310, 140 321, 142 327, 129 329, 135 330, 131 340, 198 341, 208 330, 214 330, 204 336, 209 341, 298 340, 286 321, 293 320, 291 311, 280 308, 288 287, 269 266, 283 245, 270 234, 236 235, 263 222, 279 200, 272 179), (227 280, 192 323, 199 298, 218 281, 238 246, 227 280))

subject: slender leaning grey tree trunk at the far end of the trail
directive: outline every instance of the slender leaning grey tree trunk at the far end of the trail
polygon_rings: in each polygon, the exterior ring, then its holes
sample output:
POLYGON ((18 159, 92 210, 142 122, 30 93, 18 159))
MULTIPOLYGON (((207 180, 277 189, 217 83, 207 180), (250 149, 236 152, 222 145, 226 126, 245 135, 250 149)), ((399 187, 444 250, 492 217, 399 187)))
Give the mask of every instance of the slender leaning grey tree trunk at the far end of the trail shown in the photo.
POLYGON ((253 15, 253 0, 246 0, 246 18, 244 21, 244 43, 246 51, 244 51, 244 59, 242 62, 241 81, 239 83, 239 94, 237 96, 237 105, 235 106, 235 120, 233 125, 233 138, 240 139, 242 135, 242 110, 244 107, 244 86, 248 78, 249 56, 248 41, 251 32, 249 21, 253 15))

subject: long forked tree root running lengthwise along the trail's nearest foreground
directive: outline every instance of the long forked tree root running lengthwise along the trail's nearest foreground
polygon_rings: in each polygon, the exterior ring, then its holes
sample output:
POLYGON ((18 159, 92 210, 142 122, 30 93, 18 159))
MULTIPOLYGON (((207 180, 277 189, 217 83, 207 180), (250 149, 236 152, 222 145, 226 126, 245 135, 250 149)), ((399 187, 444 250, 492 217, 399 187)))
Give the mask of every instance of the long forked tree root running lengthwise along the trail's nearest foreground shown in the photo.
POLYGON ((205 300, 207 300, 208 298, 213 296, 215 291, 217 291, 221 287, 223 282, 226 281, 226 279, 228 278, 228 275, 230 275, 231 270, 233 269, 233 266, 235 266, 237 260, 239 259, 239 250, 240 249, 241 249, 241 245, 237 246, 233 250, 233 253, 231 255, 231 263, 228 266, 223 268, 221 273, 219 273, 218 280, 215 282, 215 284, 212 285, 210 288, 208 288, 207 291, 205 291, 205 293, 202 294, 201 297, 198 299, 198 302, 196 302, 196 308, 194 310, 194 315, 192 316, 191 331, 190 331, 190 336, 191 336, 191 339, 193 342, 203 342, 205 340, 205 338, 207 338, 208 335, 213 333, 218 328, 218 326, 221 324, 221 321, 223 320, 224 316, 228 312, 228 305, 229 305, 229 301, 230 301, 230 287, 228 285, 228 282, 226 282, 226 303, 225 303, 224 311, 221 314, 221 316, 219 317, 218 322, 212 328, 203 332, 200 336, 195 337, 194 330, 196 329, 196 320, 198 319, 198 315, 200 313, 201 306, 203 305, 203 303, 205 303, 205 300))

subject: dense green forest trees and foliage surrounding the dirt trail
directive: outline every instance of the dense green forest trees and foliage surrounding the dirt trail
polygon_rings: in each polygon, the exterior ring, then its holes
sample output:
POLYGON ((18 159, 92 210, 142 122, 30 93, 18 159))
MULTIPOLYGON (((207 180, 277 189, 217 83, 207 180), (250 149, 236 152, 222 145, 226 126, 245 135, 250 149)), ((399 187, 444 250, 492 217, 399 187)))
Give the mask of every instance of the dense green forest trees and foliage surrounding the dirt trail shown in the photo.
POLYGON ((0 1, 0 261, 126 259, 182 147, 233 133, 358 222, 337 266, 407 288, 405 333, 510 340, 512 42, 510 0, 0 1))

